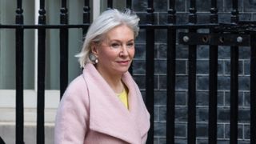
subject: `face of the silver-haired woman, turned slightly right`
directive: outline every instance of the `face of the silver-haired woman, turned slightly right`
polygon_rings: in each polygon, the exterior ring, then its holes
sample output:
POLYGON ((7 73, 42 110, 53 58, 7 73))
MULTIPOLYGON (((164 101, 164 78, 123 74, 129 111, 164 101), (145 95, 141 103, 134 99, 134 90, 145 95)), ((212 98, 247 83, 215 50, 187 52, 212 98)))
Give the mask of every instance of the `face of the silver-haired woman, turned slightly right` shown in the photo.
POLYGON ((96 68, 101 74, 122 75, 134 58, 134 31, 124 25, 114 27, 92 51, 98 57, 96 68))

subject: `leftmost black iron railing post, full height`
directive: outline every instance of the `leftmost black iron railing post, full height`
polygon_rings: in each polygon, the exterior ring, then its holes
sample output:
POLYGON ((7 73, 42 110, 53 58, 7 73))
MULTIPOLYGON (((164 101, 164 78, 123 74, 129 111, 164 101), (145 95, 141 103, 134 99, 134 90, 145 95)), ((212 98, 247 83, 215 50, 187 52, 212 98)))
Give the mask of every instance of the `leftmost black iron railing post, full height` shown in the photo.
MULTIPOLYGON (((16 24, 23 25, 22 0, 17 1, 16 24)), ((24 29, 16 28, 16 144, 24 143, 24 29)))

